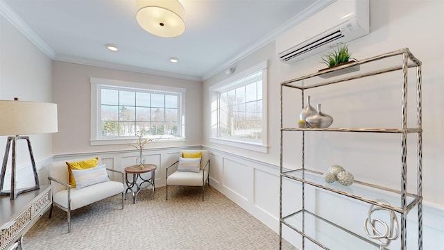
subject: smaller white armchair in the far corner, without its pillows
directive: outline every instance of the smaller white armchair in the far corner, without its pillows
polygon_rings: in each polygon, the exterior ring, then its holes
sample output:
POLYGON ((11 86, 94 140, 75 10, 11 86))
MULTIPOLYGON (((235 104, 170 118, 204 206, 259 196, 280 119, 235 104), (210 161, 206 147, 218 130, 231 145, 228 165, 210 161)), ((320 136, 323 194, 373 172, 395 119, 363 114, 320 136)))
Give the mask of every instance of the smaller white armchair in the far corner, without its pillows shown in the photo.
POLYGON ((165 183, 167 186, 166 199, 168 200, 168 186, 194 186, 202 187, 202 201, 204 200, 205 183, 210 186, 210 156, 207 150, 182 150, 180 157, 184 153, 198 153, 202 152, 200 158, 200 169, 196 172, 180 171, 180 160, 167 167, 167 174, 165 183), (179 171, 178 171, 179 170, 179 171))

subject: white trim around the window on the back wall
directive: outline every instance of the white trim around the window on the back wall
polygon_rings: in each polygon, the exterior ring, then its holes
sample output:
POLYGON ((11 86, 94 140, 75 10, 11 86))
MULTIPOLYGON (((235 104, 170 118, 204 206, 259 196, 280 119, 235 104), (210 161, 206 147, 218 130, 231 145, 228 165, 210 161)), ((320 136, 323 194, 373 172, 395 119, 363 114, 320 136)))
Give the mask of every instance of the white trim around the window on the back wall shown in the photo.
POLYGON ((132 88, 139 90, 153 90, 160 92, 176 92, 181 93, 181 108, 180 108, 180 126, 182 128, 182 136, 180 138, 161 138, 159 140, 155 140, 154 142, 182 142, 185 141, 185 97, 187 90, 185 88, 177 88, 171 86, 164 85, 155 85, 149 83, 136 83, 130 81, 120 81, 120 80, 112 80, 105 78, 89 78, 89 82, 91 83, 91 127, 90 127, 90 138, 89 144, 92 146, 95 145, 109 145, 109 144, 130 144, 134 142, 136 138, 110 138, 110 139, 100 139, 99 138, 99 127, 97 126, 99 122, 99 85, 110 85, 116 86, 118 88, 132 88))

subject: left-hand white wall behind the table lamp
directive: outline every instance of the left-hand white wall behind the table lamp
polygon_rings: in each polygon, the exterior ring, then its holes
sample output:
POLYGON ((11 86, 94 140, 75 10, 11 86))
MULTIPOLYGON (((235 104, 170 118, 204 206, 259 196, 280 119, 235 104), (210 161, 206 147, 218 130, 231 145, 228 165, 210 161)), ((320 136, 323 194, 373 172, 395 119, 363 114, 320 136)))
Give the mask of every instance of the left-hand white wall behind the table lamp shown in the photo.
MULTIPOLYGON (((0 99, 52 102, 51 59, 17 31, 0 15, 0 99)), ((52 156, 51 134, 30 135, 35 160, 52 156)), ((0 136, 0 155, 4 156, 6 136, 0 136)), ((17 141, 17 175, 31 174, 31 178, 18 178, 17 187, 32 186, 31 160, 25 140, 17 141), (31 181, 31 185, 28 182, 31 181)), ((10 151, 11 154, 11 151, 10 151)), ((9 156, 8 166, 11 164, 9 156)), ((4 188, 10 189, 10 167, 6 170, 4 188)), ((40 178, 42 182, 42 178, 40 178)), ((45 181, 46 183, 46 181, 45 181)))

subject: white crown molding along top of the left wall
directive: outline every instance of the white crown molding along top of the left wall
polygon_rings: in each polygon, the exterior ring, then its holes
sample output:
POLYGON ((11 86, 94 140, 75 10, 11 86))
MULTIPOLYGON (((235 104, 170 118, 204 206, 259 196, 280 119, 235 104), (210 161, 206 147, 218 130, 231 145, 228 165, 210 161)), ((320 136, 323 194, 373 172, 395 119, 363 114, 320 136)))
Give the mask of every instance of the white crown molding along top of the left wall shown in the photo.
POLYGON ((18 31, 20 31, 28 40, 30 40, 35 46, 40 49, 46 56, 53 59, 56 56, 56 52, 49 47, 44 40, 42 40, 34 31, 26 25, 23 20, 13 12, 3 0, 0 0, 0 14, 8 20, 18 31))

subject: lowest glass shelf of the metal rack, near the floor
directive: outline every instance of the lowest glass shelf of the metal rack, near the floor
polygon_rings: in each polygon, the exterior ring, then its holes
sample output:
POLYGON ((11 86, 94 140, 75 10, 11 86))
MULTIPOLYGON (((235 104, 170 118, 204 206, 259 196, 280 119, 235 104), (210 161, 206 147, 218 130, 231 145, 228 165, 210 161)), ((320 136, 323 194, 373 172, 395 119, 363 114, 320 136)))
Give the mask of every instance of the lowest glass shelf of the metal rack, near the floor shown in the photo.
POLYGON ((379 245, 370 239, 352 233, 307 210, 299 210, 283 217, 282 223, 324 249, 380 249, 379 245), (302 226, 302 218, 305 228, 302 226))

